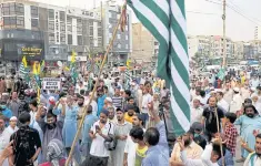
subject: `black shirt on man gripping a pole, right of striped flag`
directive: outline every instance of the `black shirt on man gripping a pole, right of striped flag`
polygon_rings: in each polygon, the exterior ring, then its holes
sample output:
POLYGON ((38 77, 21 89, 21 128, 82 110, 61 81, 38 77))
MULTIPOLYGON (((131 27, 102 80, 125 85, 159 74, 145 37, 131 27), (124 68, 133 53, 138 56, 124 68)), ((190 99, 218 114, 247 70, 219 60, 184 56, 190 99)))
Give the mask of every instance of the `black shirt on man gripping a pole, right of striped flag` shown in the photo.
MULTIPOLYGON (((224 117, 224 113, 221 108, 217 107, 218 116, 219 116, 219 128, 221 128, 221 118, 224 117)), ((203 111, 203 115, 205 118, 205 129, 209 133, 217 133, 218 132, 218 125, 217 125, 217 117, 214 110, 211 110, 210 107, 205 107, 203 111)))

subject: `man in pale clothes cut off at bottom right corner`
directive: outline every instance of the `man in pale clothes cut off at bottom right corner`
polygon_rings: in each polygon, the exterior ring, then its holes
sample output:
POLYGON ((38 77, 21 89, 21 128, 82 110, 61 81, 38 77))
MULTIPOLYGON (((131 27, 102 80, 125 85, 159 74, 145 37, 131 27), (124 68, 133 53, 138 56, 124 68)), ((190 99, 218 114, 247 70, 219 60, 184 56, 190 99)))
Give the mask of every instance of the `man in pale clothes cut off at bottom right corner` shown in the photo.
POLYGON ((251 153, 244 162, 243 166, 258 166, 261 165, 261 134, 255 136, 254 153, 251 153))

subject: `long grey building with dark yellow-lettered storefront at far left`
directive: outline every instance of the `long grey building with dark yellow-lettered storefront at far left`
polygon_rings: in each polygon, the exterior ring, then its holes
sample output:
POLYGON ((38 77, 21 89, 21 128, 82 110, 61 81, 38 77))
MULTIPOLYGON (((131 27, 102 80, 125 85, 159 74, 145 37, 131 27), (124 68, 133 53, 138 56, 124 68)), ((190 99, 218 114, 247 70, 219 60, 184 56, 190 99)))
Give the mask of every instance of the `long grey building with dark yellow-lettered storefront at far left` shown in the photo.
POLYGON ((103 52, 100 13, 29 0, 0 3, 0 60, 12 68, 18 68, 23 55, 53 65, 68 61, 72 51, 82 62, 93 50, 103 52))

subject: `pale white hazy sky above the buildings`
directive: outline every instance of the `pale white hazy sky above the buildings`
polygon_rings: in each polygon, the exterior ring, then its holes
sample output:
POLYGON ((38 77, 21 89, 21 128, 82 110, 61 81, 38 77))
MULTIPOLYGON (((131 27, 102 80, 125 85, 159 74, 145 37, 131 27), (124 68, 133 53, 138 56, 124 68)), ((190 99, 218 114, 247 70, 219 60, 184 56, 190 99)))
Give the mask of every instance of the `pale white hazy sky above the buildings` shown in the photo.
MULTIPOLYGON (((54 6, 83 9, 98 7, 101 0, 37 0, 54 6)), ((102 0, 106 1, 106 0, 102 0)), ((122 0, 118 0, 122 3, 122 0)), ((227 37, 234 41, 254 39, 254 27, 261 29, 261 0, 227 0, 227 37), (235 11, 233 11, 232 9, 235 11)), ((222 0, 185 0, 188 34, 222 35, 222 0)), ((132 22, 139 22, 134 13, 132 22)), ((260 39, 261 40, 261 39, 260 39)))

